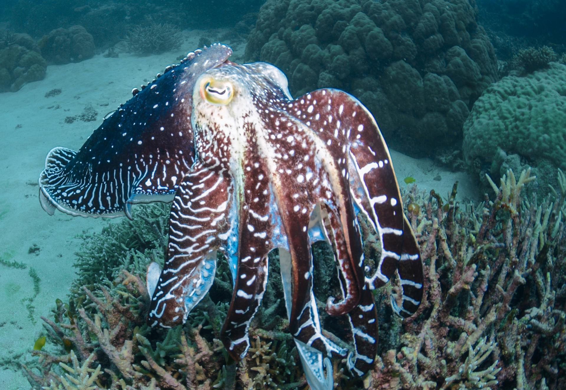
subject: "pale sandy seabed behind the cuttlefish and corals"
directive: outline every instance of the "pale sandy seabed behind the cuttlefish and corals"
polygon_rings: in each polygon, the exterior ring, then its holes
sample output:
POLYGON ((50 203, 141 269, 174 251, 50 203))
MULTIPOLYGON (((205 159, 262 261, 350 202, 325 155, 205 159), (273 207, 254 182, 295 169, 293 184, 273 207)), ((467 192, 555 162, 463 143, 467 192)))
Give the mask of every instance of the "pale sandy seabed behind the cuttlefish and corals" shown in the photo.
MULTIPOLYGON (((198 47, 201 33, 188 32, 183 49, 198 47)), ((217 38, 220 32, 207 32, 206 36, 217 38)), ((245 45, 238 44, 237 57, 242 56, 244 48, 245 45)), ((104 115, 131 97, 132 88, 151 81, 157 72, 175 62, 178 54, 176 51, 143 58, 129 54, 120 54, 119 58, 97 55, 76 64, 49 66, 44 80, 25 85, 16 93, 0 94, 0 256, 27 265, 25 270, 0 265, 1 389, 29 389, 22 373, 14 371, 17 365, 11 363, 30 360, 27 351, 42 331, 40 316, 52 317, 50 310, 56 298, 66 301, 67 289, 75 277, 72 264, 80 245, 78 235, 100 232, 110 223, 71 217, 59 211, 49 216, 41 209, 37 177, 44 167, 46 153, 54 146, 79 149, 104 115), (62 93, 45 98, 45 93, 53 88, 60 88, 62 93), (98 111, 95 122, 64 122, 66 116, 80 114, 88 104, 98 111), (33 244, 40 248, 37 254, 28 253, 33 244), (28 319, 27 302, 22 301, 33 296, 32 278, 28 275, 32 267, 41 278, 41 292, 33 301, 35 323, 28 319)), ((474 185, 464 174, 445 172, 431 161, 393 151, 392 158, 402 187, 406 185, 402 179, 413 176, 422 189, 435 188, 446 196, 454 180, 460 180, 460 199, 477 198, 474 185), (438 175, 441 180, 434 180, 438 175)))

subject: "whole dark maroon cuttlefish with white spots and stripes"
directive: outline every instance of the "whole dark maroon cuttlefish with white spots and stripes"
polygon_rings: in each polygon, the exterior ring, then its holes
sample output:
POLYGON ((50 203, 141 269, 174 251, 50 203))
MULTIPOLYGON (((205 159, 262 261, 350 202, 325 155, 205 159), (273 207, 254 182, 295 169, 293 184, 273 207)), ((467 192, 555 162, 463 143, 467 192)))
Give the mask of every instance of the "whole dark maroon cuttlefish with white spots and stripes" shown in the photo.
POLYGON ((229 262, 233 295, 221 331, 235 360, 250 347, 268 254, 278 250, 289 331, 313 389, 332 389, 329 358, 363 376, 378 341, 372 289, 398 274, 409 317, 423 294, 419 248, 406 219, 393 163, 371 113, 337 89, 293 99, 267 63, 237 64, 224 45, 190 54, 136 93, 78 151, 55 148, 40 176, 41 203, 72 215, 130 214, 136 202, 173 200, 163 270, 148 268, 148 324, 183 324, 211 287, 217 251, 229 262), (381 242, 364 258, 358 215, 381 242), (323 335, 312 292, 311 246, 330 244, 351 349, 323 335))

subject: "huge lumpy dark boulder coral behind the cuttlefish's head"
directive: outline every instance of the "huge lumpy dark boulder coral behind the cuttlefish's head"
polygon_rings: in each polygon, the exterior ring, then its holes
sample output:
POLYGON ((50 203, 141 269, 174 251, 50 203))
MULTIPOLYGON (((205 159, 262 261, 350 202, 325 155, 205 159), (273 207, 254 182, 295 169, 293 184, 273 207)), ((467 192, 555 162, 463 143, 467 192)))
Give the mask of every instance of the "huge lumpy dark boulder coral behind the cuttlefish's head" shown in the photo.
POLYGON ((476 14, 468 0, 268 0, 246 60, 281 68, 295 96, 353 93, 395 148, 432 154, 458 148, 471 105, 495 81, 476 14))

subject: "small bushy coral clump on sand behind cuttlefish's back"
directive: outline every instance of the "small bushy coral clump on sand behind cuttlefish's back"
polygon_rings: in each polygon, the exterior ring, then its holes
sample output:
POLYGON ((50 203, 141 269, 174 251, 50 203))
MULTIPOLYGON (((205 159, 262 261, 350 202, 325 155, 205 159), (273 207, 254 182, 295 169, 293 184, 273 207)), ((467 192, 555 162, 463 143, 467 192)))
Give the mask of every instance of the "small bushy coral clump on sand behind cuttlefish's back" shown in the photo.
POLYGON ((169 23, 136 26, 128 31, 128 48, 133 53, 141 55, 175 50, 182 42, 179 32, 177 27, 169 23))

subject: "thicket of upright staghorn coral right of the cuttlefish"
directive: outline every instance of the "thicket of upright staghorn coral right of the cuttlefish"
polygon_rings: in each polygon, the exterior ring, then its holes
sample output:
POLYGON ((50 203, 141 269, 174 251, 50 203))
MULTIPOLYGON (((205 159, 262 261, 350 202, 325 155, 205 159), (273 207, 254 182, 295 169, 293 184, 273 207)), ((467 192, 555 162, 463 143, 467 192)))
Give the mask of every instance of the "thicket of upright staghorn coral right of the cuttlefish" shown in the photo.
POLYGON ((495 200, 477 206, 456 202, 456 186, 447 203, 405 194, 423 210, 410 219, 428 258, 426 295, 369 388, 564 387, 566 180, 541 203, 521 197, 533 180, 508 171, 492 182, 495 200))

